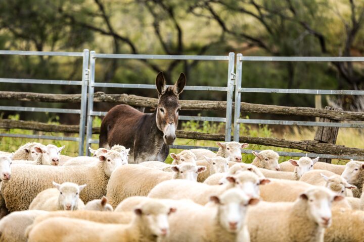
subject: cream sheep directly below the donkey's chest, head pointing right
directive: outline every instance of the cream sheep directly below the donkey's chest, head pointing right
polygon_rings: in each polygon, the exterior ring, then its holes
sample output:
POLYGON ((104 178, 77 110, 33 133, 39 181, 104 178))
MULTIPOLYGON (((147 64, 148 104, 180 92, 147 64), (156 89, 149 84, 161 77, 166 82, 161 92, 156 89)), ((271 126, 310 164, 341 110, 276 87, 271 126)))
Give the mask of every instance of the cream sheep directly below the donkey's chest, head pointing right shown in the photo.
POLYGON ((182 163, 165 172, 137 164, 123 165, 116 169, 107 185, 106 197, 115 208, 122 200, 131 196, 147 196, 157 184, 169 179, 196 181, 197 174, 206 169, 193 163, 182 163))

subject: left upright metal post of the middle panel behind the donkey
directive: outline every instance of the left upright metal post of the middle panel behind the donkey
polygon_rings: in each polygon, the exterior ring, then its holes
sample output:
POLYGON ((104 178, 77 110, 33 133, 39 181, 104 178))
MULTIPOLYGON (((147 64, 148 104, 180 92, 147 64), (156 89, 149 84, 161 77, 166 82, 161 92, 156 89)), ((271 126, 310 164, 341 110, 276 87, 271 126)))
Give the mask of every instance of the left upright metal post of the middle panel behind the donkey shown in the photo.
POLYGON ((94 57, 95 51, 90 52, 90 75, 88 80, 88 105, 87 105, 87 132, 86 132, 86 156, 89 156, 90 152, 88 150, 90 141, 92 139, 92 123, 93 116, 91 113, 94 110, 94 83, 95 83, 95 61, 94 57))

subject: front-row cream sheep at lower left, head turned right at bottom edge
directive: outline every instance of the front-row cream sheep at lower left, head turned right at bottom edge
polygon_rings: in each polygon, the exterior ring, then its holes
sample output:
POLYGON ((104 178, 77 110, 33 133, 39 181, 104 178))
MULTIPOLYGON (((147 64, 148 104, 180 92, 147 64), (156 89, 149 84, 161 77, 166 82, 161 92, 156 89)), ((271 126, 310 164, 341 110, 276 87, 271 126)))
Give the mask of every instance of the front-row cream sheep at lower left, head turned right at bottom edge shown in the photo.
POLYGON ((159 201, 147 201, 134 209, 134 218, 129 224, 105 224, 56 217, 37 223, 26 235, 29 242, 157 241, 168 235, 168 215, 175 211, 175 208, 159 201))

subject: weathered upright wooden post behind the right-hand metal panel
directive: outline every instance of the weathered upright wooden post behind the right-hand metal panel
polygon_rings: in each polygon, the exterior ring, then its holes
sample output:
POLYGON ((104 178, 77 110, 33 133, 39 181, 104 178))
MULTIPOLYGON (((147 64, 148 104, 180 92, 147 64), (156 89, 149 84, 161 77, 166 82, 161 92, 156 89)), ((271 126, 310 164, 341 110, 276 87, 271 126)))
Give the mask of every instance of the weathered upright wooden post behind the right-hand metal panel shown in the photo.
MULTIPOLYGON (((330 106, 326 106, 325 109, 327 109, 327 110, 342 110, 341 108, 330 107, 330 106)), ((319 122, 338 123, 339 121, 336 120, 336 119, 320 117, 319 122)), ((320 143, 335 144, 338 133, 339 133, 339 127, 319 126, 319 127, 317 127, 317 131, 316 131, 314 140, 319 141, 320 143)), ((325 151, 323 150, 322 153, 325 153, 325 151)), ((331 163, 331 159, 320 158, 320 161, 326 162, 326 163, 331 163)))

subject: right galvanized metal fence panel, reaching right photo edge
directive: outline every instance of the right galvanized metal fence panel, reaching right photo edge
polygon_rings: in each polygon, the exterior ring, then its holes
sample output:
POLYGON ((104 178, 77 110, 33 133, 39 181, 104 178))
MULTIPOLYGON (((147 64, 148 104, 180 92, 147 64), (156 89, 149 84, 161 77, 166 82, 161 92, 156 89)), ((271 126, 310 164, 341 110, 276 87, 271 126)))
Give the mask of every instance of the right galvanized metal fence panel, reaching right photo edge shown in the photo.
MULTIPOLYGON (((240 118, 241 95, 242 93, 292 93, 292 94, 326 94, 326 95, 364 95, 364 91, 359 90, 320 90, 320 89, 281 89, 281 88, 243 88, 242 71, 243 62, 364 62, 364 57, 280 57, 280 56, 243 56, 237 54, 236 63, 236 86, 235 86, 235 113, 234 113, 234 141, 239 141, 240 124, 263 124, 263 125, 296 125, 296 126, 324 126, 340 128, 364 128, 364 123, 325 123, 306 122, 293 120, 270 120, 270 119, 247 119, 240 118)), ((244 150, 243 153, 250 154, 252 150, 244 150)), ((331 159, 358 159, 361 156, 343 156, 330 154, 314 154, 300 152, 278 152, 281 156, 308 156, 331 159)))

